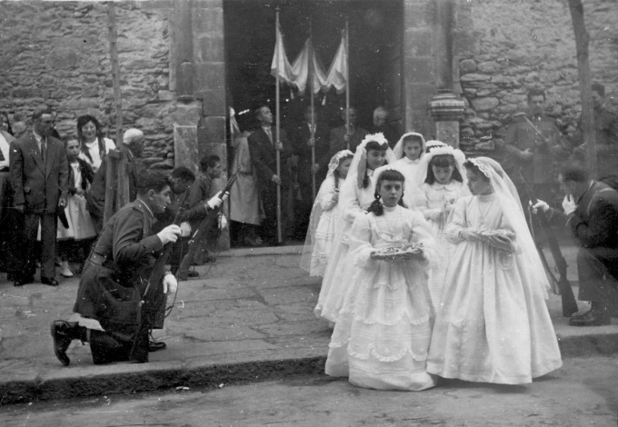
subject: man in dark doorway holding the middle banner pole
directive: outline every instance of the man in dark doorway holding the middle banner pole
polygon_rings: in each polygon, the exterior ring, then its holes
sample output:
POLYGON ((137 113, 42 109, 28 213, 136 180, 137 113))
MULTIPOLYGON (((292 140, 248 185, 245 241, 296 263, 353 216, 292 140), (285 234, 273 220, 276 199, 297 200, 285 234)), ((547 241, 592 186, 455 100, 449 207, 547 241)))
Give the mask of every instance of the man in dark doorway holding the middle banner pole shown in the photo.
POLYGON ((301 200, 294 203, 294 237, 304 240, 314 204, 312 178, 315 174, 315 193, 320 190, 320 184, 328 171, 329 145, 328 131, 323 123, 318 121, 317 110, 307 106, 304 109, 304 122, 294 129, 294 154, 298 155, 296 166, 297 183, 301 200), (315 148, 315 162, 312 163, 312 147, 315 148))

